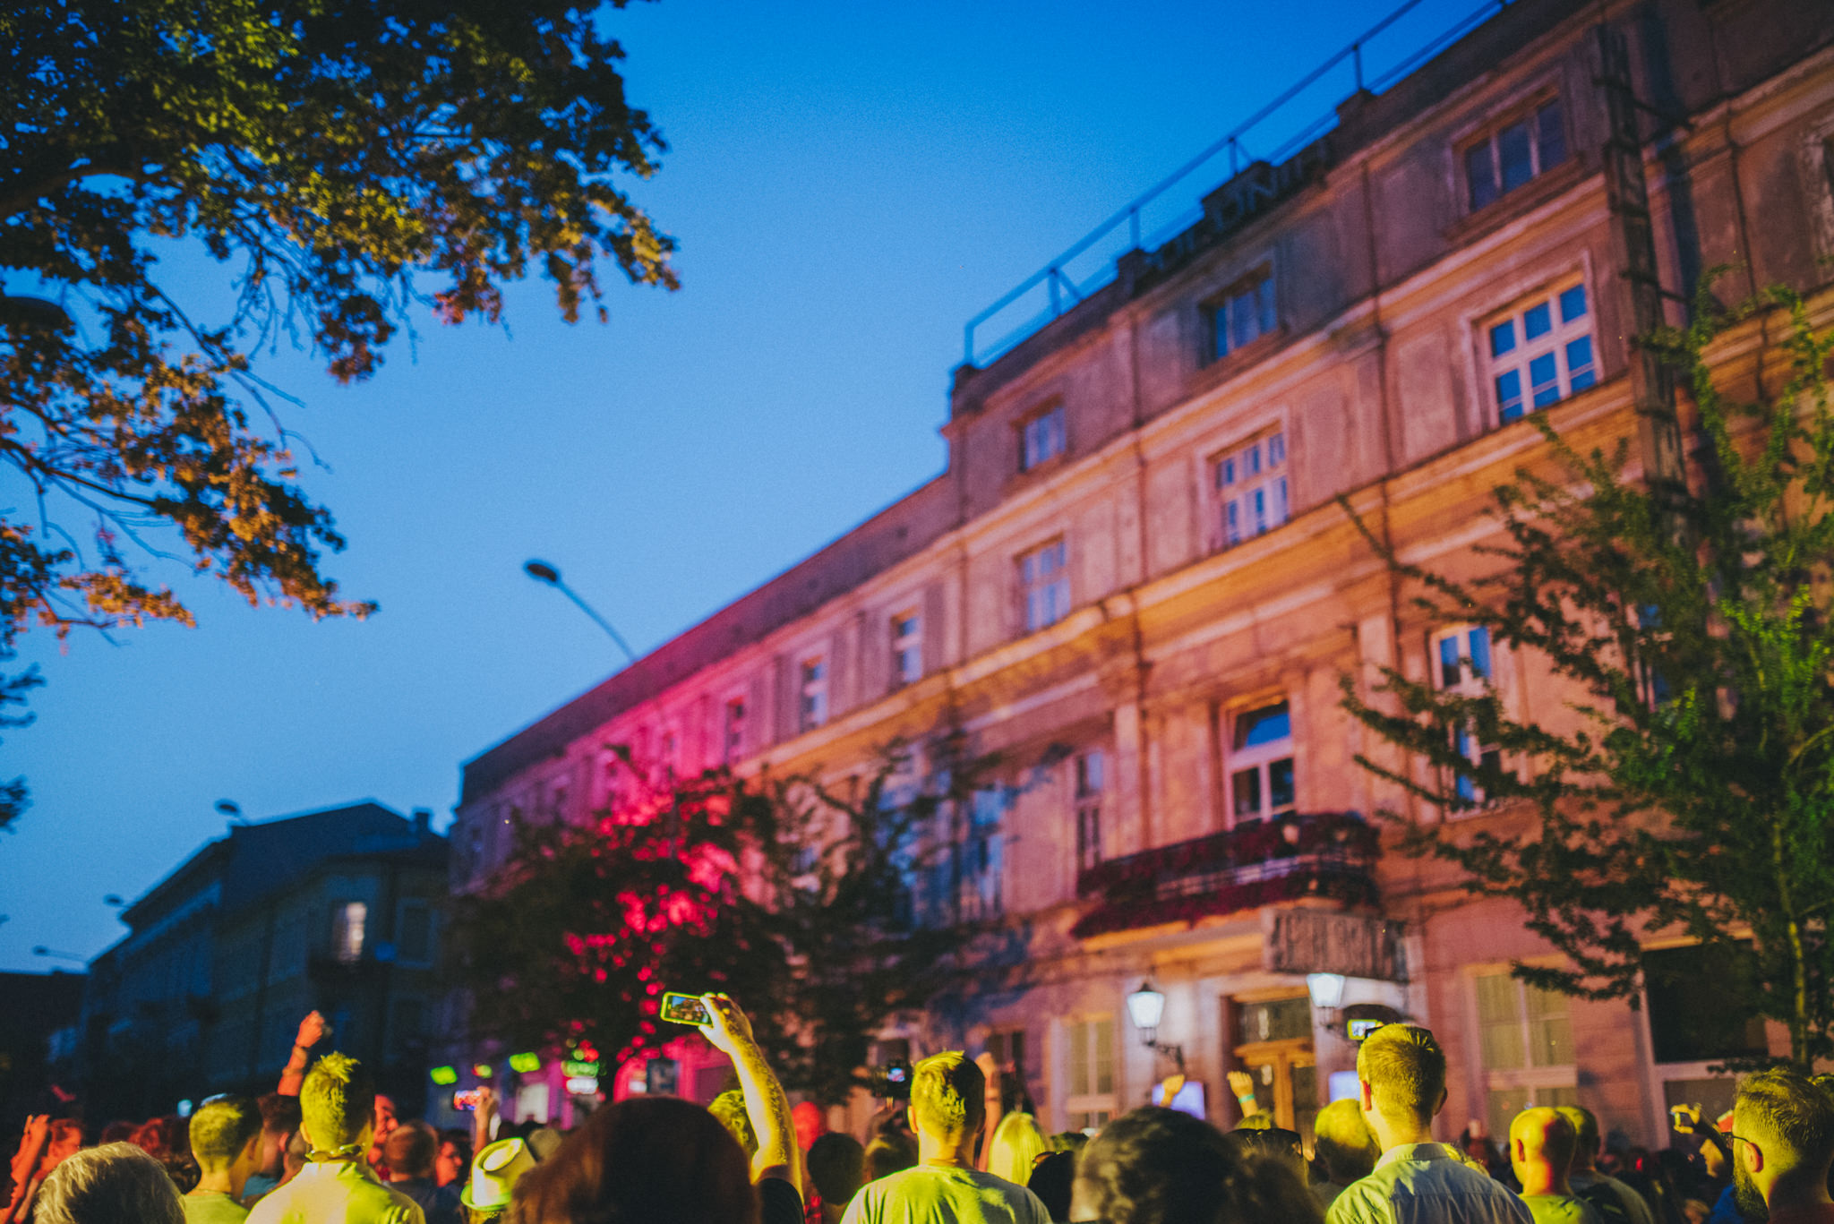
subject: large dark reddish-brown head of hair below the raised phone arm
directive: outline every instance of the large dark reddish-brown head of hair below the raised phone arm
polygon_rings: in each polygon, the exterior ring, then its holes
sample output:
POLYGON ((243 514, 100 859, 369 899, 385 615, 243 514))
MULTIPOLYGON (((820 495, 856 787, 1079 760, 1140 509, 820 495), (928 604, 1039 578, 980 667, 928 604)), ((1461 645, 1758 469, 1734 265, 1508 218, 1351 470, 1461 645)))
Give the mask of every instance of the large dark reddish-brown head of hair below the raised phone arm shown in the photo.
POLYGON ((734 1220, 757 1224, 737 1140, 680 1097, 607 1105, 515 1184, 515 1224, 734 1220))

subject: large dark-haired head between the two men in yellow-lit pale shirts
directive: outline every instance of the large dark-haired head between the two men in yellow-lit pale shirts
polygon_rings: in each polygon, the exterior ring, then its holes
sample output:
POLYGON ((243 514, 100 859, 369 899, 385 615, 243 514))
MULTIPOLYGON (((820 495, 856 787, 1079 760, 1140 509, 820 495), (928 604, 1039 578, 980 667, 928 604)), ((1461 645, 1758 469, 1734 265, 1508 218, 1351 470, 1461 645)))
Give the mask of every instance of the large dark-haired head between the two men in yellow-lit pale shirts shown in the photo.
POLYGON ((1155 1105, 1122 1114, 1082 1149, 1073 1198, 1071 1218, 1111 1224, 1320 1218, 1286 1162, 1231 1151, 1210 1123, 1155 1105))

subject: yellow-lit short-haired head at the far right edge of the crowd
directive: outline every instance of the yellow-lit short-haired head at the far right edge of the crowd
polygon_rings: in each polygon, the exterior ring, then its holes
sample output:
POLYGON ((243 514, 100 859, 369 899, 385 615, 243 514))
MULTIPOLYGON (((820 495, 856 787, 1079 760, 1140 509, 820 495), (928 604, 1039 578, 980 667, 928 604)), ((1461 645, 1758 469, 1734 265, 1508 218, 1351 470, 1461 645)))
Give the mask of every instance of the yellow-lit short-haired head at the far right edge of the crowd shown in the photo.
POLYGON ((1731 1116, 1733 1195, 1759 1215, 1777 1200, 1827 1198, 1834 1162, 1834 1097, 1788 1066, 1757 1072, 1739 1085, 1731 1116))

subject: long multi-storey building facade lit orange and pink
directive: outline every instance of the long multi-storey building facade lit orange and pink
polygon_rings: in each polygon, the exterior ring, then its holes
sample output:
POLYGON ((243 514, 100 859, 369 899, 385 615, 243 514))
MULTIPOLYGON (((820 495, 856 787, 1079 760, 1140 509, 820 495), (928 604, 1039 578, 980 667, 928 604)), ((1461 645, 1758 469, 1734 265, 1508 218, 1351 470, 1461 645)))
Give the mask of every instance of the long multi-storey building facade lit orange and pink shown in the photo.
MULTIPOLYGON (((1707 1064, 1777 1035, 1513 980, 1550 949, 1511 905, 1383 853, 1366 813, 1407 798, 1353 762, 1383 747, 1339 708, 1341 679, 1396 666, 1484 670, 1515 716, 1570 718, 1533 659, 1414 613, 1337 499, 1403 560, 1469 573, 1489 490, 1542 457, 1530 417, 1581 448, 1638 437, 1599 26, 1629 50, 1662 284, 1687 295, 1731 264, 1724 295, 1784 283, 1827 323, 1834 9, 1519 0, 959 367, 935 481, 468 762, 455 886, 488 879, 514 813, 605 806, 607 743, 677 771, 847 776, 954 729, 1003 773, 915 886, 1020 951, 965 1020, 886 1039, 1016 1064, 1049 1130, 1170 1070, 1124 1006, 1148 980, 1155 1040, 1221 1123, 1240 1068, 1306 1129, 1353 1066, 1359 1004, 1438 1033, 1445 1134, 1581 1103, 1651 1143, 1669 1103, 1722 1097, 1707 1064)), ((1757 345, 1733 334, 1715 360, 1757 345)), ((1447 835, 1526 818, 1480 807, 1447 835)))

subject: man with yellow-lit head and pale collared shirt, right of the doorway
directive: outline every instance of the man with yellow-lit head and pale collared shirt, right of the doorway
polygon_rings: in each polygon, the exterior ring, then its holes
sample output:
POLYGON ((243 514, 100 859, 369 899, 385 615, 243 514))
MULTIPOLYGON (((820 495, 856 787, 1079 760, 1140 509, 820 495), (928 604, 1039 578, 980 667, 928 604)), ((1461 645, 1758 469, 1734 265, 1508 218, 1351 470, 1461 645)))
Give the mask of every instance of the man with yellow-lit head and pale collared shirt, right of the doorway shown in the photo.
POLYGON ((1432 1141, 1445 1107, 1445 1053, 1414 1024, 1385 1024, 1357 1052, 1357 1088, 1381 1160, 1331 1202, 1326 1224, 1533 1224, 1500 1182, 1432 1141))

